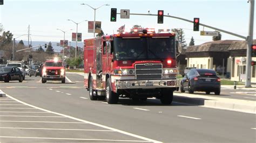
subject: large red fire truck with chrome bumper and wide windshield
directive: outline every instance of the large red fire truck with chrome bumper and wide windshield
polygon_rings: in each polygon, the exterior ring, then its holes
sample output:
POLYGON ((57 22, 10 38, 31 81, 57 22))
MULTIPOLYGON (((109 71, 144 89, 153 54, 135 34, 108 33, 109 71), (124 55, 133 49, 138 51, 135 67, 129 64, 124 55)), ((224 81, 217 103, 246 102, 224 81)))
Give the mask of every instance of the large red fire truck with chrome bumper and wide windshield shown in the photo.
POLYGON ((171 104, 178 90, 178 43, 170 30, 131 29, 84 40, 84 83, 90 99, 116 104, 119 97, 171 104))

